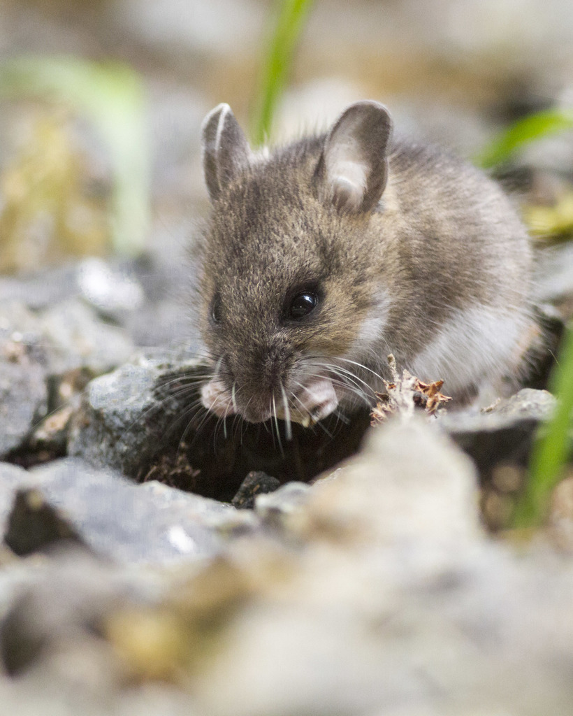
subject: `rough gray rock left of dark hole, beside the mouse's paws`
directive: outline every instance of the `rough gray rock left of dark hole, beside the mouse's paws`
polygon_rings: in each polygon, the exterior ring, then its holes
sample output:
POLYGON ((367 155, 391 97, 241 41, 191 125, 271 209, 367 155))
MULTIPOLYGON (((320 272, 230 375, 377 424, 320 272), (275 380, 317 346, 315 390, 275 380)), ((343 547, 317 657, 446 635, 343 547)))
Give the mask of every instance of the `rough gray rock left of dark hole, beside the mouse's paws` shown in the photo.
POLYGON ((93 380, 72 423, 69 454, 138 480, 177 480, 178 486, 203 488, 206 494, 224 489, 235 445, 222 431, 214 442, 196 438, 205 422, 196 387, 204 371, 197 359, 157 352, 93 380))

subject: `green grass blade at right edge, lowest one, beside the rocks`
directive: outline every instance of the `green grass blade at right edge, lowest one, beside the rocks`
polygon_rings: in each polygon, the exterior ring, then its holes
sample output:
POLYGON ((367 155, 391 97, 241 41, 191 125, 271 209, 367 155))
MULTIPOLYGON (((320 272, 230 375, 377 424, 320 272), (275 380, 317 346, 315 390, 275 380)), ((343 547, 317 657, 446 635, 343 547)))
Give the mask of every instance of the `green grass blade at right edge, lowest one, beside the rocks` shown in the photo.
POLYGON ((573 411, 573 330, 568 329, 549 390, 558 397, 552 420, 539 429, 529 463, 527 486, 512 519, 515 528, 540 526, 547 516, 552 490, 569 457, 573 411))

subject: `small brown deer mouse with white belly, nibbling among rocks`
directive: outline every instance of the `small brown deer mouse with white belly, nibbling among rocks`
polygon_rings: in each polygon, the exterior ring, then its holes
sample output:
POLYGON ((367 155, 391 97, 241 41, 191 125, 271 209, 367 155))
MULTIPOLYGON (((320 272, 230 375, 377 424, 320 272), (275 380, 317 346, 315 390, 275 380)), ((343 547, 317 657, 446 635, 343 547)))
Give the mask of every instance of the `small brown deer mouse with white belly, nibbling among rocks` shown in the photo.
POLYGON ((371 101, 324 134, 260 152, 222 104, 203 122, 202 151, 210 411, 288 426, 352 412, 383 390, 389 353, 444 379, 458 405, 516 371, 532 257, 479 170, 394 137, 371 101))

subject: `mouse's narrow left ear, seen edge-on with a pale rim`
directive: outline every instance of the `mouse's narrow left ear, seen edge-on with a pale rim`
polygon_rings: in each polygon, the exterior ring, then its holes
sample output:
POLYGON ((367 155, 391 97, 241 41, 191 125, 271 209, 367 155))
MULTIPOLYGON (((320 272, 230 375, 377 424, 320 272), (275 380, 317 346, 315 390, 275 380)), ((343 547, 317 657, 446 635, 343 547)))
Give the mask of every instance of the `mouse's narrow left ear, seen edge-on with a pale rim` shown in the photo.
POLYGON ((250 147, 229 105, 218 105, 202 124, 203 172, 211 201, 249 165, 250 147))

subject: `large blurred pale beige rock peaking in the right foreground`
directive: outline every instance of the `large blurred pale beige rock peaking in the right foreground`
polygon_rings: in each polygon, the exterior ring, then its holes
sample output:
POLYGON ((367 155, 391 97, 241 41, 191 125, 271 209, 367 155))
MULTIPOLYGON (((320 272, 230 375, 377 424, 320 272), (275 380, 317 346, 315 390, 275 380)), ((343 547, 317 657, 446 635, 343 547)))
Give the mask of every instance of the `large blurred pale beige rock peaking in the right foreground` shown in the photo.
MULTIPOLYGON (((202 710, 569 714, 570 565, 485 538, 471 461, 435 425, 373 431, 291 517, 292 581, 275 566, 234 620, 194 683, 202 710)), ((265 556, 239 553, 255 574, 265 556)))

